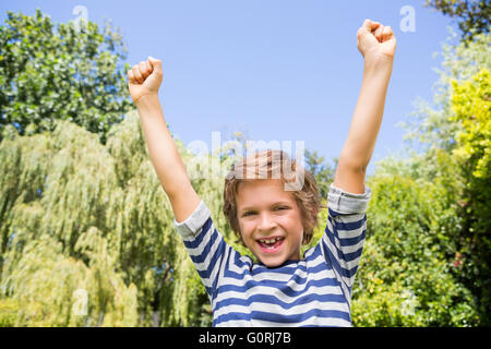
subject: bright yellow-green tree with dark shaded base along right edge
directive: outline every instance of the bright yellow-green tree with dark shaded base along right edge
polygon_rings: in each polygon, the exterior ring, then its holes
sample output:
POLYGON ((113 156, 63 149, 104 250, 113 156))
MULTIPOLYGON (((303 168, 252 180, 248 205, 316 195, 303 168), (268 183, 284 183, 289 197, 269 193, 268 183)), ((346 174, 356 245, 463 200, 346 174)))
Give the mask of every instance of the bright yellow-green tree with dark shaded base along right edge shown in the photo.
POLYGON ((452 83, 450 120, 462 125, 453 155, 463 178, 459 236, 462 277, 479 301, 481 320, 491 324, 491 77, 482 69, 469 81, 452 83))

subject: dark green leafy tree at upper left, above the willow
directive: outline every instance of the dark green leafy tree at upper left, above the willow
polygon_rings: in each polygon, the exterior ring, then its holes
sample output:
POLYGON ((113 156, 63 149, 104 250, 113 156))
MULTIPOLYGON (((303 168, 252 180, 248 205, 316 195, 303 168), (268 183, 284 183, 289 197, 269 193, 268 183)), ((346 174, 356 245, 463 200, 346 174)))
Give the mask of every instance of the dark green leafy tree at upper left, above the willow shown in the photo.
POLYGON ((8 12, 0 26, 0 140, 8 124, 21 135, 52 131, 70 120, 106 142, 110 125, 130 106, 125 47, 107 23, 53 23, 8 12))

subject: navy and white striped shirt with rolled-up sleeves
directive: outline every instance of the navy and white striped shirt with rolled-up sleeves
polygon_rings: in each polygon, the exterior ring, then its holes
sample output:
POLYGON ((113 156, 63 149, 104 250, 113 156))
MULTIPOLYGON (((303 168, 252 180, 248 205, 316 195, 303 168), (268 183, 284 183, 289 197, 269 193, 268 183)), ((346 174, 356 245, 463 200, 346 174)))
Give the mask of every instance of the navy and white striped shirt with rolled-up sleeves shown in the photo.
POLYGON ((328 218, 303 260, 268 268, 228 245, 203 203, 178 232, 206 288, 213 326, 351 326, 351 287, 363 249, 371 190, 331 184, 328 218))

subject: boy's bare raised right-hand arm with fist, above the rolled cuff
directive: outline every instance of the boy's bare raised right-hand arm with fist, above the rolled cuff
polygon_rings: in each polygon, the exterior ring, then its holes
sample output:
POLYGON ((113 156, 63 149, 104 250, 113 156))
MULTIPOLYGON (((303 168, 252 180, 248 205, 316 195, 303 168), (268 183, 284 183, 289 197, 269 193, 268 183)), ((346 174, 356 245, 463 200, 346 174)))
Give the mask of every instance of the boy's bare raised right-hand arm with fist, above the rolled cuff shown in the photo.
POLYGON ((390 26, 366 20, 358 29, 357 44, 364 58, 363 80, 348 137, 337 164, 334 185, 361 194, 364 192, 367 167, 382 124, 396 38, 390 26))

